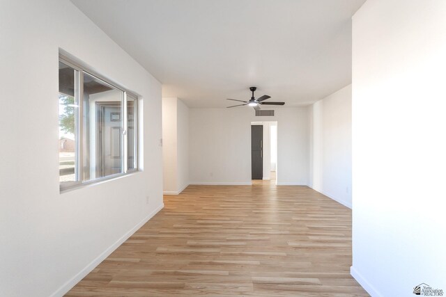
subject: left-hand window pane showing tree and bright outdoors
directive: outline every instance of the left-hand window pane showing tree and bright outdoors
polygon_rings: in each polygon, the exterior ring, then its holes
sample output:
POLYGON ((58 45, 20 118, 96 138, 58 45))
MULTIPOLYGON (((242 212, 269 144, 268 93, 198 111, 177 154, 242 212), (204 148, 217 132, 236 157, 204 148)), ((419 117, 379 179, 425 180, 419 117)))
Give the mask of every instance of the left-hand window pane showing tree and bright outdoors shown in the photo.
POLYGON ((77 182, 77 70, 59 62, 59 182, 77 182))

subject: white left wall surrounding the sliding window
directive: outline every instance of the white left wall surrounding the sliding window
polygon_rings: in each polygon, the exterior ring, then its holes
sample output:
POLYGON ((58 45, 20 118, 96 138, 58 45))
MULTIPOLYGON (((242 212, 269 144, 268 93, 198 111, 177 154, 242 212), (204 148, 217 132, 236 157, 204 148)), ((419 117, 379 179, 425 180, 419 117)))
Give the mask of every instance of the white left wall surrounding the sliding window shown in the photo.
POLYGON ((61 296, 162 207, 161 85, 68 0, 0 2, 0 296, 61 296), (59 193, 59 47, 141 95, 144 171, 59 193))

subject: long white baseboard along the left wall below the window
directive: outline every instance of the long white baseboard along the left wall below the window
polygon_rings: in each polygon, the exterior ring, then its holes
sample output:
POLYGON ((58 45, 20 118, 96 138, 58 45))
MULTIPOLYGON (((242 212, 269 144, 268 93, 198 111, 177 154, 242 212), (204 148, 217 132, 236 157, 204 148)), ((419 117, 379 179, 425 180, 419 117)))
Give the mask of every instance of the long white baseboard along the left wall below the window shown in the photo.
POLYGON ((160 211, 164 207, 164 203, 161 204, 159 207, 157 207, 154 211, 151 212, 146 218, 141 220, 136 226, 132 227, 129 232, 125 233, 120 239, 118 239, 115 243, 112 244, 112 246, 109 246, 107 250, 103 251, 96 259, 94 259, 90 264, 88 264, 85 268, 82 269, 82 271, 79 271, 75 276, 73 276, 68 282, 62 285, 59 289, 57 289, 53 294, 51 294, 51 297, 56 296, 63 296, 65 295, 72 287, 75 287, 75 285, 82 280, 82 278, 85 278, 86 275, 91 273, 93 269, 100 264, 100 262, 104 261, 116 248, 121 246, 121 244, 124 243, 130 236, 134 234, 134 232, 137 232, 139 228, 141 228, 145 223, 147 223, 148 220, 150 220, 155 214, 157 214, 158 211, 160 211))

